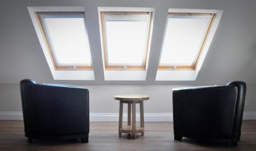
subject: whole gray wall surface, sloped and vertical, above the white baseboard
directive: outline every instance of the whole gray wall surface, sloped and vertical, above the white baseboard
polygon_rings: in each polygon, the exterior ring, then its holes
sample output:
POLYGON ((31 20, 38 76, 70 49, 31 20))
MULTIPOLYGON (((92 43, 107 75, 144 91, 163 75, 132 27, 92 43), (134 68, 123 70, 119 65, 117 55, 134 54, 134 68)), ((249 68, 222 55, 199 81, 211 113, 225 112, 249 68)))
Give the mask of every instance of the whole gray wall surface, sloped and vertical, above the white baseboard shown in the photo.
POLYGON ((82 84, 90 89, 92 113, 117 113, 118 102, 112 97, 122 93, 149 94, 151 100, 145 102, 146 113, 170 113, 172 88, 243 80, 248 84, 246 102, 250 102, 245 111, 256 111, 255 6, 254 0, 1 0, 0 111, 21 111, 18 82, 24 78, 37 82, 82 84), (53 80, 27 6, 85 8, 95 81, 53 80), (150 66, 145 81, 104 81, 97 7, 155 8, 150 66), (196 81, 155 81, 168 8, 224 10, 196 81))

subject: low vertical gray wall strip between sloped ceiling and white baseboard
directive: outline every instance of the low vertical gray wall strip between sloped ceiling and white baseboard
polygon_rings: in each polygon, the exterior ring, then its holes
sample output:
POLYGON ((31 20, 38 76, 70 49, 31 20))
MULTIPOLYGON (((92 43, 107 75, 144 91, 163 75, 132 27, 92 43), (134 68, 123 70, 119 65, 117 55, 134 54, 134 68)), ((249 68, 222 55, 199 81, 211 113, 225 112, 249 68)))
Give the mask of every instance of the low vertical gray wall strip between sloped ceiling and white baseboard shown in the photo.
MULTIPOLYGON (((116 94, 148 94, 144 102, 145 113, 172 113, 172 89, 189 85, 79 85, 90 90, 91 113, 118 113, 119 102, 116 94)), ((196 85, 195 85, 196 86, 196 85)), ((256 111, 256 84, 247 85, 245 111, 256 111), (249 103, 248 103, 249 102, 249 103)), ((138 108, 138 107, 137 107, 138 108)), ((18 84, 0 84, 0 111, 21 112, 18 84)), ((126 107, 124 107, 126 113, 126 107)))

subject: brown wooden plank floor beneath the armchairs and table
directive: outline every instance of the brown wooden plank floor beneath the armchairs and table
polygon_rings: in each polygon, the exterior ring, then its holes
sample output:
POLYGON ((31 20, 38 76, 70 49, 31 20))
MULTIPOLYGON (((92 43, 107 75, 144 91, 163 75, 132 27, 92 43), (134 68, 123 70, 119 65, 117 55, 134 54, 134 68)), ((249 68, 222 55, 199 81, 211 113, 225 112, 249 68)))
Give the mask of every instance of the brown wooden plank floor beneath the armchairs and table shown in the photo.
POLYGON ((238 146, 227 148, 183 138, 175 141, 173 122, 145 122, 145 135, 118 137, 118 122, 91 122, 89 143, 79 140, 27 142, 23 121, 0 121, 0 150, 256 150, 256 120, 243 121, 238 146))

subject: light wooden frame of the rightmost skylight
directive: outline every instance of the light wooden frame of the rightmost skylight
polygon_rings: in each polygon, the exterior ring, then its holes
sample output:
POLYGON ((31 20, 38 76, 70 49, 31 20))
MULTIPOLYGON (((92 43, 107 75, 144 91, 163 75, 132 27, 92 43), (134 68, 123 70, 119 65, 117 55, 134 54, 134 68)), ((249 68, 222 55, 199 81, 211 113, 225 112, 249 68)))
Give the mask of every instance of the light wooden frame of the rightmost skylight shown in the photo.
POLYGON ((196 58, 194 59, 191 66, 189 66, 187 64, 182 64, 182 65, 181 64, 168 64, 168 65, 163 66, 163 65, 160 65, 160 60, 159 60, 158 70, 175 70, 175 71, 176 70, 196 70, 197 65, 198 65, 198 61, 201 57, 202 50, 203 50, 204 45, 205 45, 205 41, 207 40, 207 37, 208 37, 209 32, 211 30, 212 24, 214 23, 214 20, 216 18, 216 14, 213 14, 213 13, 176 13, 176 12, 169 12, 168 17, 169 17, 169 15, 211 15, 210 20, 209 20, 208 25, 207 25, 207 28, 206 28, 206 32, 204 34, 204 37, 201 41, 201 45, 200 45, 199 50, 197 52, 196 58))

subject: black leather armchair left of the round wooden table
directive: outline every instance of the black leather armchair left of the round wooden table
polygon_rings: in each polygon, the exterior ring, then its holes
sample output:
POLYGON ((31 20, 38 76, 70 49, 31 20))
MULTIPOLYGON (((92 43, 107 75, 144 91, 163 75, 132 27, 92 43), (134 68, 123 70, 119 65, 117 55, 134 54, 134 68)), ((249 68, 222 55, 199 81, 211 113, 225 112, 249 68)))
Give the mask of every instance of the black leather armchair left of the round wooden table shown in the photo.
POLYGON ((25 136, 88 142, 89 91, 73 85, 20 81, 25 136))

